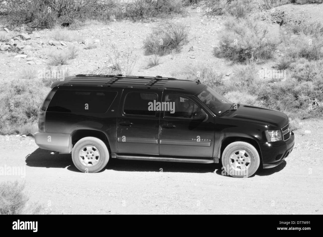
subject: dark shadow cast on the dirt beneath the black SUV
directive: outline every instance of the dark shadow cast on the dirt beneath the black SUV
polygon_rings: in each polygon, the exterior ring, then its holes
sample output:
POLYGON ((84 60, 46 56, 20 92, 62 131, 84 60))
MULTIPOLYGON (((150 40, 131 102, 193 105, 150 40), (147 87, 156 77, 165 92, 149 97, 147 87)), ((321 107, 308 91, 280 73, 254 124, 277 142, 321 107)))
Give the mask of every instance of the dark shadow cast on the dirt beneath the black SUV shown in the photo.
MULTIPOLYGON (((37 148, 33 153, 26 156, 26 165, 32 167, 45 168, 67 168, 69 171, 80 172, 73 164, 71 154, 50 154, 50 151, 37 148)), ((263 169, 252 175, 270 175, 281 171, 286 166, 286 161, 280 165, 263 169)), ((223 176, 221 161, 216 164, 200 163, 178 163, 161 161, 134 161, 110 158, 108 165, 100 172, 105 170, 115 171, 139 171, 139 172, 182 172, 182 173, 216 173, 223 176)), ((229 175, 224 175, 231 177, 229 175)), ((232 177, 231 177, 232 178, 232 177)))

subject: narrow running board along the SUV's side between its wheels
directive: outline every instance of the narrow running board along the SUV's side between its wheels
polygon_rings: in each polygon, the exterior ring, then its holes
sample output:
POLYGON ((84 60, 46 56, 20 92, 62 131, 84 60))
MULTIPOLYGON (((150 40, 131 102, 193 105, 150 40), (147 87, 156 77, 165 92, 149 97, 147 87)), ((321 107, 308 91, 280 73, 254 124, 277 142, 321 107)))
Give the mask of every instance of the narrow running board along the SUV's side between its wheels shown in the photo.
POLYGON ((116 153, 111 154, 112 158, 121 160, 140 160, 140 161, 170 161, 170 162, 185 162, 185 163, 219 163, 218 158, 212 159, 192 159, 192 158, 170 158, 160 156, 131 156, 131 155, 117 155, 116 153))

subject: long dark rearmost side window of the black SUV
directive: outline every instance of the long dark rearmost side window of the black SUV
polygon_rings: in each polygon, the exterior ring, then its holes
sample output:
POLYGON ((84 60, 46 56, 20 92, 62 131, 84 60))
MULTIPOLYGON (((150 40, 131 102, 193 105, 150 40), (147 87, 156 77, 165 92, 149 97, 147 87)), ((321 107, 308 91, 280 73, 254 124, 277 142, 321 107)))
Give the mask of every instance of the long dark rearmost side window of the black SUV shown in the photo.
POLYGON ((51 99, 47 112, 104 114, 116 95, 116 91, 58 90, 51 99))

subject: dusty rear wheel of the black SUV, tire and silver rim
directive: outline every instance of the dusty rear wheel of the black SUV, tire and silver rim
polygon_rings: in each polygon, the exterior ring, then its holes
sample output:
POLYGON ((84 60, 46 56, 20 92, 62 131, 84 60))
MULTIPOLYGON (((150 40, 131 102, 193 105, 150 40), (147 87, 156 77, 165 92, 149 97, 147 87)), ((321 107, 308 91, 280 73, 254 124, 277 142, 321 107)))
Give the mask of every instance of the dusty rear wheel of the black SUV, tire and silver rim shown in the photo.
POLYGON ((72 160, 76 168, 85 173, 102 170, 110 158, 105 143, 96 137, 84 137, 73 147, 72 160))

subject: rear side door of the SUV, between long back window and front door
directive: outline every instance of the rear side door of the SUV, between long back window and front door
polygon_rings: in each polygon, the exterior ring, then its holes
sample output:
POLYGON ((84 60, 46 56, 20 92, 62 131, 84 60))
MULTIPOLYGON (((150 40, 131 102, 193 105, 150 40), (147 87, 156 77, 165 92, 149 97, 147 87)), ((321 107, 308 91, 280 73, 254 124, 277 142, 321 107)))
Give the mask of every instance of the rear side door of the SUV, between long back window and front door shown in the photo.
POLYGON ((161 101, 160 90, 124 89, 117 119, 118 153, 159 155, 159 111, 149 103, 161 101))

